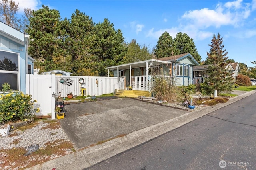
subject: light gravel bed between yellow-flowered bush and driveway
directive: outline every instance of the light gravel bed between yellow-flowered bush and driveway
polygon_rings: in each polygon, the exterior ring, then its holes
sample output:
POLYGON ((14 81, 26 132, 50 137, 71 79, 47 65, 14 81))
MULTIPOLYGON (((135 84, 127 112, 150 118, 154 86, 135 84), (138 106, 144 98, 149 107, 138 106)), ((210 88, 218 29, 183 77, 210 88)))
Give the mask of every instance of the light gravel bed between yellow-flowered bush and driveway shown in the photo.
POLYGON ((36 144, 39 145, 39 148, 44 148, 47 142, 56 141, 58 139, 69 141, 62 128, 44 129, 48 124, 49 123, 44 121, 39 121, 38 125, 35 125, 30 129, 26 129, 25 131, 16 129, 11 131, 8 136, 3 137, 0 135, 0 149, 12 149, 14 147, 27 148, 36 144), (14 144, 15 140, 19 140, 19 142, 14 144))

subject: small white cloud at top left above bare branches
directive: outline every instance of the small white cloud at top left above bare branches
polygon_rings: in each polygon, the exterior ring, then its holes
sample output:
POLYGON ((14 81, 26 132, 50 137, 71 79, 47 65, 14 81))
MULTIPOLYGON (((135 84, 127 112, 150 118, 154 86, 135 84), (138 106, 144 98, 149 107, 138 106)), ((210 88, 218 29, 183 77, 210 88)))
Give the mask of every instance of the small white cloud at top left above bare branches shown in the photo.
POLYGON ((31 10, 38 10, 41 7, 40 0, 14 0, 16 4, 19 3, 19 13, 23 13, 24 8, 31 8, 31 10))

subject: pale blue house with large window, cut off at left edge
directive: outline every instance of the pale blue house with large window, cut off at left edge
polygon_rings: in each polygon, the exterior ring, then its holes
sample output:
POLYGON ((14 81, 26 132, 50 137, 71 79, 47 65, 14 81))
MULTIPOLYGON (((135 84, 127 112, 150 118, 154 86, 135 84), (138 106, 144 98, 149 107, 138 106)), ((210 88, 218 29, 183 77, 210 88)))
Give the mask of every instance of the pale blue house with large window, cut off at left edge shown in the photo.
POLYGON ((26 74, 33 74, 34 67, 29 41, 29 35, 0 21, 0 89, 8 82, 12 90, 26 93, 26 74))

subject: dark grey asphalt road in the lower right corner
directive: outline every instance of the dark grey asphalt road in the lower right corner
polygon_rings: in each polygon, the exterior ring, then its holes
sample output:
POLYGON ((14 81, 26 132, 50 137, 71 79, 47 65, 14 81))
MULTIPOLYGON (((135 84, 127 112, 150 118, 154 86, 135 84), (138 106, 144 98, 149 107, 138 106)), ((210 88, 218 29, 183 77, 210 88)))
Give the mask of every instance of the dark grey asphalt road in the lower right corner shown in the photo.
POLYGON ((255 135, 252 94, 88 169, 255 170, 255 135))

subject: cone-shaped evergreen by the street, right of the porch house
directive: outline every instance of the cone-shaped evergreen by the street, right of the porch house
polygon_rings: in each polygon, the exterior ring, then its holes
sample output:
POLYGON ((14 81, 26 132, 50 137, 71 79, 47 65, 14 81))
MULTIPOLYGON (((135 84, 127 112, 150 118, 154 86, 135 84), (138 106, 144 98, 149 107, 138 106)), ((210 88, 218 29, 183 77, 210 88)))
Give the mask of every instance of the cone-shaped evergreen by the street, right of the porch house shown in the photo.
POLYGON ((209 94, 213 93, 214 90, 218 90, 218 94, 221 92, 229 92, 233 90, 234 78, 232 72, 227 68, 228 52, 223 50, 224 45, 222 45, 222 38, 220 38, 220 33, 218 33, 218 38, 213 35, 210 53, 207 52, 208 61, 211 65, 208 66, 208 77, 204 79, 202 88, 209 94))

